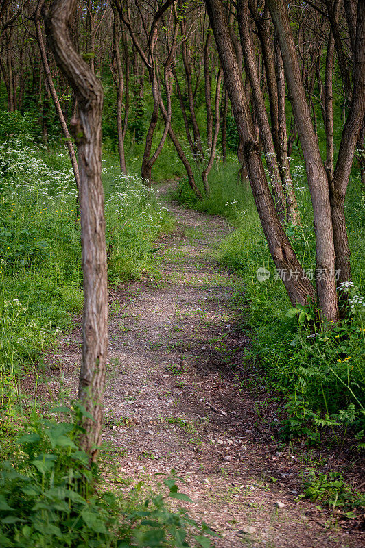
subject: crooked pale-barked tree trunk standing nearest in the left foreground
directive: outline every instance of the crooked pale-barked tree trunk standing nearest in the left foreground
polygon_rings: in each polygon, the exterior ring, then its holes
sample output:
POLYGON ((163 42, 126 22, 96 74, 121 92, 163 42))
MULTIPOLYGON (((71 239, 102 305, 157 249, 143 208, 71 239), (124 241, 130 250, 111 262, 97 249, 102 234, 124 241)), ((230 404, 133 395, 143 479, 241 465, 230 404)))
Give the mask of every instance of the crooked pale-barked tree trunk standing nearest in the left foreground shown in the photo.
POLYGON ((75 51, 69 27, 78 0, 54 0, 44 11, 49 43, 78 100, 80 120, 73 120, 79 152, 84 314, 79 397, 93 419, 82 416, 80 446, 97 458, 102 432, 102 400, 108 347, 108 287, 104 190, 102 186, 103 90, 93 70, 75 51))

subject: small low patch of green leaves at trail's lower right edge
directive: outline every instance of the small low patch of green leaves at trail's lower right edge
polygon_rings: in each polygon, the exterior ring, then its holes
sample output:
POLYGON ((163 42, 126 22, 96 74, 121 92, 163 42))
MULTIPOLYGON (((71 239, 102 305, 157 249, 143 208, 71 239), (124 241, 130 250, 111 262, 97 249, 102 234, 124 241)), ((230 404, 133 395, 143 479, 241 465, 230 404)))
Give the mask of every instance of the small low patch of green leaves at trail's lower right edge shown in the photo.
POLYGON ((318 501, 333 508, 354 508, 365 505, 364 495, 351 488, 338 472, 324 474, 315 469, 309 469, 307 475, 303 475, 304 477, 306 478, 304 482, 305 497, 311 501, 318 501))

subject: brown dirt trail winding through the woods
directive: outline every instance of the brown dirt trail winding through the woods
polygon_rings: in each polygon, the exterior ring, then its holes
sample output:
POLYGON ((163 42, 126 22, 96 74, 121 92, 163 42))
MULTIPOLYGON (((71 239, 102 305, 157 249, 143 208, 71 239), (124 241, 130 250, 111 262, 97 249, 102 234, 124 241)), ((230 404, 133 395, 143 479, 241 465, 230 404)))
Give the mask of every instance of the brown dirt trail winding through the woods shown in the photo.
MULTIPOLYGON (((169 209, 176 231, 156 244, 161 277, 120 288, 110 306, 104 441, 119 473, 137 482, 174 468, 189 512, 222 534, 218 547, 361 547, 360 533, 297 498, 308 463, 272 436, 276 408, 260 412, 264 388, 244 382, 250 340, 232 303, 238 280, 212 255, 226 221, 169 209)), ((58 356, 71 393, 74 335, 58 356)))

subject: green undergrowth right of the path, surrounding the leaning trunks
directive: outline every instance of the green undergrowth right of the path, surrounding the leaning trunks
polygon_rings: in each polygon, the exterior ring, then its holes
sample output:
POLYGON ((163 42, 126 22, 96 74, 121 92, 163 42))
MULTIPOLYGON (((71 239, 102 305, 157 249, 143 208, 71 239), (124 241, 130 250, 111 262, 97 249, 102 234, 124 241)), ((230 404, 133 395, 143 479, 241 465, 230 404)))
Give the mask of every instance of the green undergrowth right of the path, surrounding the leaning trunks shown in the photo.
MULTIPOLYGON (((316 257, 309 190, 299 158, 292 160, 291 168, 303 225, 287 224, 285 229, 310 273, 316 257)), ((252 194, 246 182, 237 179, 237 162, 232 159, 211 171, 209 185, 211 193, 203 201, 193 197, 186 182, 180 184, 176 197, 190 207, 231 220, 234 229, 220 243, 217 256, 242 279, 235 305, 242 312, 243 329, 250 332, 252 356, 285 397, 282 436, 301 436, 312 444, 326 431, 338 444, 351 429, 357 445, 365 447, 365 198, 356 173, 346 203, 354 281, 340 288, 348 294, 351 307, 346 319, 330 331, 314 327, 316 311, 311 306, 292 308, 268 251, 252 194)))

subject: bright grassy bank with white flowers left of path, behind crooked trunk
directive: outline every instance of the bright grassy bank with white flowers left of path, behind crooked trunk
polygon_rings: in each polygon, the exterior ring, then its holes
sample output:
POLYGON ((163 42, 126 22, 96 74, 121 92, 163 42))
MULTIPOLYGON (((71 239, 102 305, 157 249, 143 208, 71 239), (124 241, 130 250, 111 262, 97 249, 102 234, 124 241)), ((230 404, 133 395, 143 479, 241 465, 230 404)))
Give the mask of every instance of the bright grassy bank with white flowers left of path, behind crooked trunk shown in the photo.
MULTIPOLYGON (((14 115, 10 115, 13 119, 14 115)), ((10 122, 9 122, 10 123, 10 122)), ((104 162, 110 282, 138 278, 171 228, 138 177, 104 162)), ((0 367, 36 363, 82 308, 80 222, 66 150, 25 136, 0 145, 0 367)))

